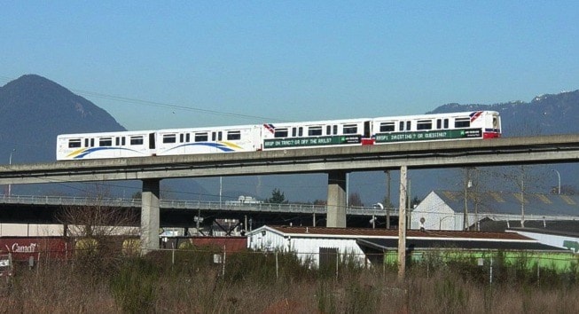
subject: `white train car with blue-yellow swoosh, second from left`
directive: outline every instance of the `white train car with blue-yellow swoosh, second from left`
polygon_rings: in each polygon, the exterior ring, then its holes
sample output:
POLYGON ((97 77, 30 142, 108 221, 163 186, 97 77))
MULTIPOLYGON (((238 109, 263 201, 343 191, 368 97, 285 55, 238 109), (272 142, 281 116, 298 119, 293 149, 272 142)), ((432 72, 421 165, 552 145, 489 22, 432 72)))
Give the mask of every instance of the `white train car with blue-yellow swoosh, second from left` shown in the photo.
POLYGON ((157 155, 255 152, 261 149, 262 126, 239 125, 158 130, 157 155))

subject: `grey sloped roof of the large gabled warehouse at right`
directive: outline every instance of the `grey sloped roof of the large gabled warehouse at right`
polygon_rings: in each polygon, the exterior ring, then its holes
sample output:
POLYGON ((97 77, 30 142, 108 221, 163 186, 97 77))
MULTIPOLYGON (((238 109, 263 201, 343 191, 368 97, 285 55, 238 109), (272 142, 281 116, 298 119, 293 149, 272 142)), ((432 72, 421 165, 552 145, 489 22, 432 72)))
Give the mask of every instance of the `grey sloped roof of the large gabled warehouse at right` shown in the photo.
MULTIPOLYGON (((462 213, 465 208, 465 192, 433 191, 453 211, 462 213)), ((468 197, 469 211, 476 207, 479 214, 520 215, 520 192, 481 192, 468 197), (474 201, 473 199, 478 199, 474 201), (477 203, 478 204, 475 204, 477 203), (475 206, 476 205, 476 206, 475 206)), ((579 216, 579 196, 564 194, 526 193, 525 215, 528 216, 579 216)))

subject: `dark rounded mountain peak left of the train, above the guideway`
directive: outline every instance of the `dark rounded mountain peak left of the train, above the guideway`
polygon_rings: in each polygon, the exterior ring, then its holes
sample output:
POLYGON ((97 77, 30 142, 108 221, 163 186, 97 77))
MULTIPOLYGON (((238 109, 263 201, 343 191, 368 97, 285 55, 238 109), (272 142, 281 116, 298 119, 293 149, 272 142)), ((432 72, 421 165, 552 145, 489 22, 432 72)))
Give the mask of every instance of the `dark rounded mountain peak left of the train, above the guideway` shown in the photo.
POLYGON ((23 75, 0 87, 0 156, 8 162, 56 160, 62 133, 125 130, 89 100, 39 75, 23 75))

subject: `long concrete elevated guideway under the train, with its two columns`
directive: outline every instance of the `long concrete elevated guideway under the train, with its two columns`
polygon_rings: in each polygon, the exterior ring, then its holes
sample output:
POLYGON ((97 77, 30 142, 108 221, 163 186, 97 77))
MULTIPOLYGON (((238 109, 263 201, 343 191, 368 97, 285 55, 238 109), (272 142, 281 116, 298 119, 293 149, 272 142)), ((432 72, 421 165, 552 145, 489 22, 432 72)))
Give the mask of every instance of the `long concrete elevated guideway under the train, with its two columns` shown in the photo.
MULTIPOLYGON (((159 183, 164 178, 326 173, 328 227, 346 227, 346 175, 400 170, 405 204, 407 169, 461 168, 576 162, 579 136, 503 137, 388 145, 287 149, 252 153, 156 156, 0 166, 0 184, 141 180, 145 248, 158 247, 159 183)), ((405 208, 400 208, 404 216, 405 208)), ((400 220, 401 224, 404 219, 400 220)), ((399 229, 405 227, 399 224, 399 229)))

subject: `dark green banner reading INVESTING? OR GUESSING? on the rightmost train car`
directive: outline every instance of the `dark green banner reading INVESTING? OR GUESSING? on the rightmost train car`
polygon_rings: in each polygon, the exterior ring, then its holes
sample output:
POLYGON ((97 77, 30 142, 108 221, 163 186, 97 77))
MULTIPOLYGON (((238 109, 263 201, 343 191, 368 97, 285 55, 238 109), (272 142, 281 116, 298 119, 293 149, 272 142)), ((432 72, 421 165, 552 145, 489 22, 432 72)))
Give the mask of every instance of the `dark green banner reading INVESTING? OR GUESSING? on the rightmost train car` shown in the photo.
POLYGON ((428 141, 436 139, 458 139, 482 137, 481 129, 469 130, 428 130, 418 132, 397 132, 376 134, 376 143, 428 141))

